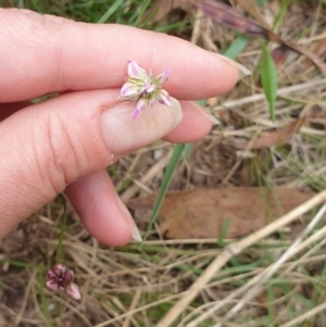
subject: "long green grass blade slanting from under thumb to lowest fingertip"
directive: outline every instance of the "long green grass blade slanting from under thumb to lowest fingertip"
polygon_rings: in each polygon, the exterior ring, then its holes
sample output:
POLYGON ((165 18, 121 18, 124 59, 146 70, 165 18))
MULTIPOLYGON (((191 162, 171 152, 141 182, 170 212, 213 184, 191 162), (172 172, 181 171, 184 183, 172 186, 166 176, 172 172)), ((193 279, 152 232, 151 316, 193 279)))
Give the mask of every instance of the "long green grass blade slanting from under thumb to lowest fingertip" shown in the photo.
POLYGON ((150 232, 150 230, 151 230, 151 228, 152 228, 152 226, 155 222, 155 218, 156 218, 156 216, 160 212, 160 209, 161 209, 161 205, 162 205, 163 200, 165 198, 166 191, 168 189, 173 173, 175 172, 175 169, 177 167, 177 164, 178 164, 178 162, 181 158, 181 154, 185 150, 185 147, 186 147, 186 144, 176 144, 176 146, 174 146, 172 158, 171 158, 171 160, 168 162, 168 165, 166 167, 166 171, 164 173, 162 185, 161 185, 156 201, 154 203, 153 212, 151 214, 149 226, 148 226, 146 235, 143 237, 143 241, 146 241, 146 239, 147 239, 147 237, 148 237, 148 235, 149 235, 149 232, 150 232))

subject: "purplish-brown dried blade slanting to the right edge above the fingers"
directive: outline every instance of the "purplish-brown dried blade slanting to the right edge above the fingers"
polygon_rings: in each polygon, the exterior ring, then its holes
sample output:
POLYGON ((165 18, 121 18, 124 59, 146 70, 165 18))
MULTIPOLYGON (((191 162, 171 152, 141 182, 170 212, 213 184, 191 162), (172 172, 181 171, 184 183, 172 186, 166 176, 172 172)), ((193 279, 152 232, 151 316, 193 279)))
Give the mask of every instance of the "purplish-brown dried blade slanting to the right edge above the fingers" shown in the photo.
POLYGON ((288 43, 271 29, 241 16, 230 7, 213 0, 199 0, 197 5, 204 14, 220 24, 255 37, 265 38, 266 40, 285 46, 292 51, 305 55, 326 75, 326 65, 314 53, 296 43, 288 43))

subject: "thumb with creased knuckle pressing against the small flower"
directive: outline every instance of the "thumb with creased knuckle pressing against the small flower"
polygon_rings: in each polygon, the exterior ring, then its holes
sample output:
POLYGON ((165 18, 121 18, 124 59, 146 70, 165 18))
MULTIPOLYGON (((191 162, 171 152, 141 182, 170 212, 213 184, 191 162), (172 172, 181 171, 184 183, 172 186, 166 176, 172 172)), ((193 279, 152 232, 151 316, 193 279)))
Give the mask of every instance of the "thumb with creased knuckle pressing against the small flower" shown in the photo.
POLYGON ((181 121, 177 100, 133 120, 117 90, 66 93, 0 123, 0 238, 83 176, 153 142, 181 121))

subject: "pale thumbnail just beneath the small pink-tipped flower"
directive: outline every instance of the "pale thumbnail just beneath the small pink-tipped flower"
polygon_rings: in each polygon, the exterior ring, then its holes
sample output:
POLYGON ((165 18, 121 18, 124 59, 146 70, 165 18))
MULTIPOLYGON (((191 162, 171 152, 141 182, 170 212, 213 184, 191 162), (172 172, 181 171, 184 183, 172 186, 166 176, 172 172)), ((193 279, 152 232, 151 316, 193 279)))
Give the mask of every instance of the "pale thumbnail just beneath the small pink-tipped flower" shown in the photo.
POLYGON ((133 120, 136 102, 118 103, 101 115, 101 128, 110 153, 122 154, 145 147, 163 138, 183 120, 180 103, 170 98, 171 106, 156 102, 152 109, 143 109, 133 120))

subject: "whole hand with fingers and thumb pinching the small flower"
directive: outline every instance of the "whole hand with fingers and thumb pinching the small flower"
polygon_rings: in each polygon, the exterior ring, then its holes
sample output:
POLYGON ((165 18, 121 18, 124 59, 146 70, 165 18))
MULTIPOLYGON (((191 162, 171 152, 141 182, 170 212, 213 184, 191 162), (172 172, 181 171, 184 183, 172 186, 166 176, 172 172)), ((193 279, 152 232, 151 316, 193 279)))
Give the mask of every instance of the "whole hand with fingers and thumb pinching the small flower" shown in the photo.
POLYGON ((158 139, 191 142, 211 129, 191 100, 218 96, 238 70, 184 40, 120 25, 75 23, 0 9, 0 238, 65 191, 99 241, 121 246, 135 224, 105 167, 158 139), (134 60, 178 100, 133 121, 117 103, 134 60), (222 78, 221 78, 222 76, 222 78), (58 97, 30 104, 48 93, 58 97))

